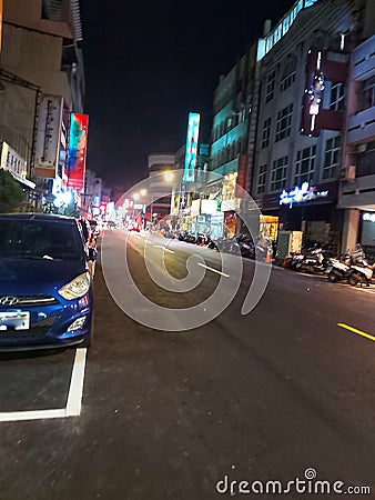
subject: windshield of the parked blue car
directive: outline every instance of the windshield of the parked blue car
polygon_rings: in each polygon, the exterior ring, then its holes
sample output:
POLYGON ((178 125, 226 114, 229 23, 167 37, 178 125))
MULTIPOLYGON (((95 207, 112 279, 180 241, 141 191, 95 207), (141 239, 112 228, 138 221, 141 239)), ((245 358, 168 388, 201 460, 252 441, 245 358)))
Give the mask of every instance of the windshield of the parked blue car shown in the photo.
POLYGON ((0 219, 0 258, 80 260, 74 227, 58 221, 0 219))

